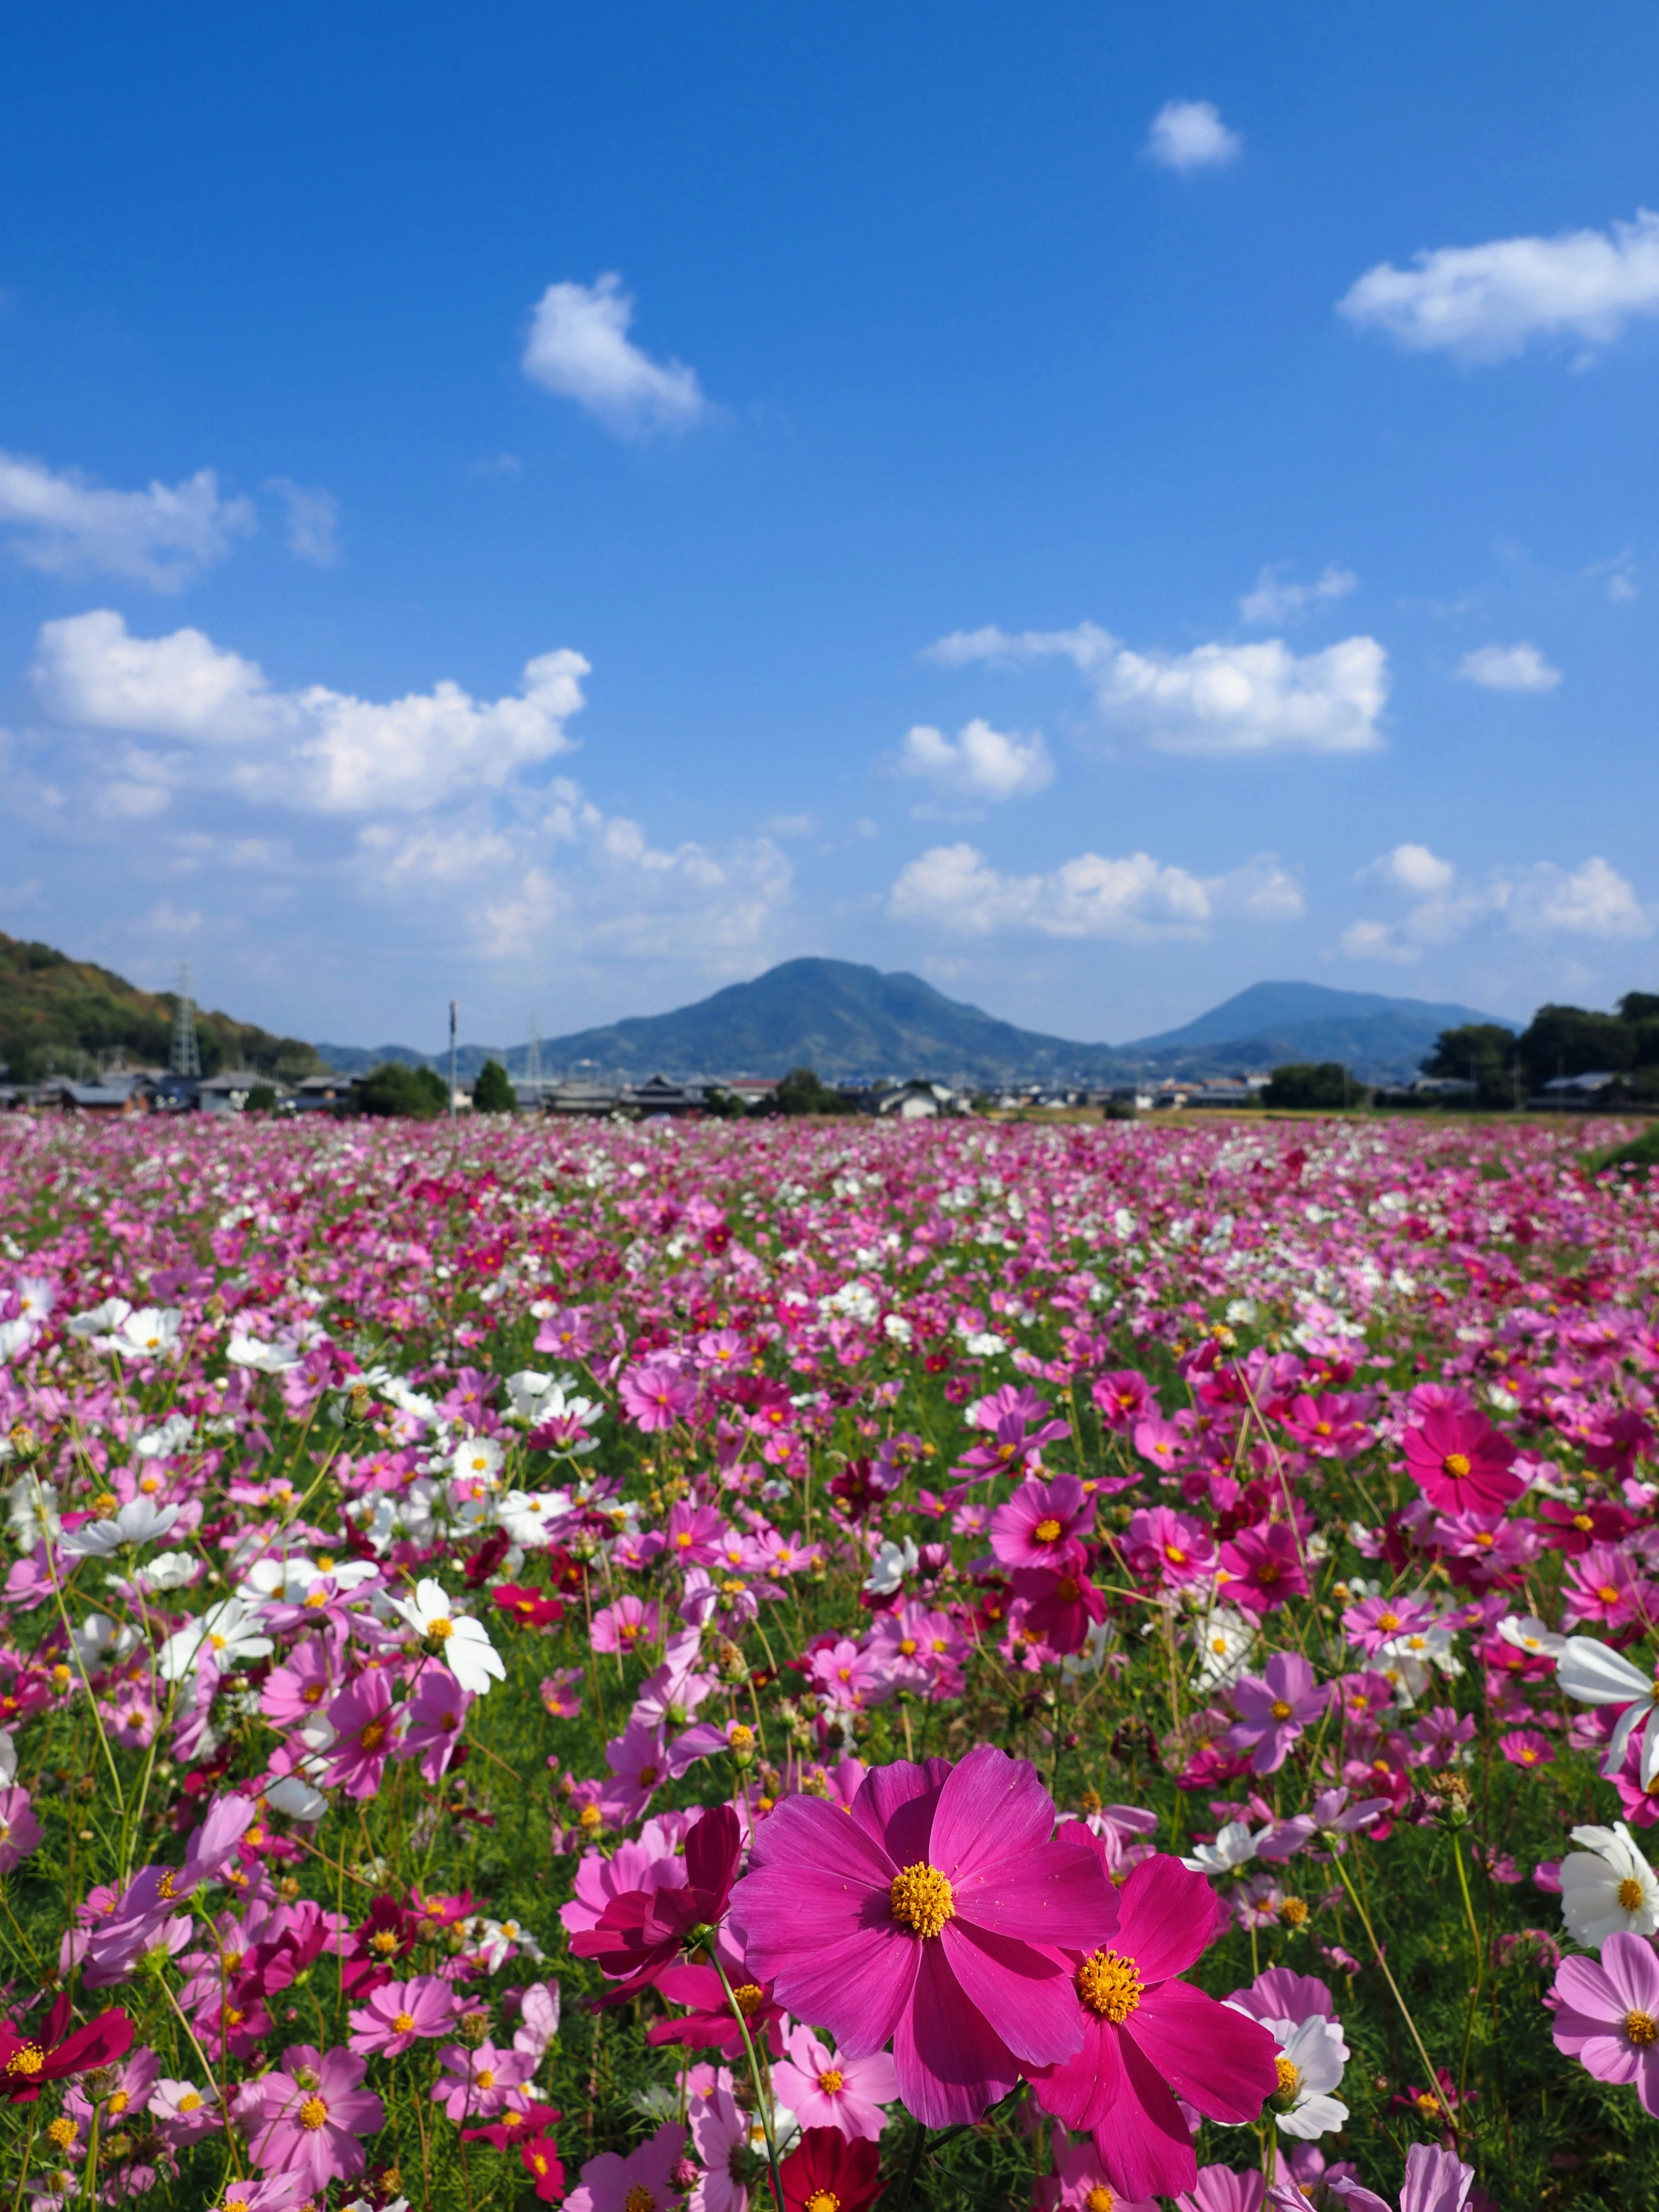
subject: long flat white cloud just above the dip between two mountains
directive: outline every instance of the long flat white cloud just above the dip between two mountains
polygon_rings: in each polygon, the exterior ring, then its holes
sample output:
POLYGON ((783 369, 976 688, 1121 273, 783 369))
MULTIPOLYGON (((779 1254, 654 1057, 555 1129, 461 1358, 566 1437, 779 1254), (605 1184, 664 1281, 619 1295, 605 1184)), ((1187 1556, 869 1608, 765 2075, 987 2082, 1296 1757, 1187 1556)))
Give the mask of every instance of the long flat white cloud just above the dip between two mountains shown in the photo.
POLYGON ((1035 931, 1148 942, 1201 938, 1219 916, 1294 920, 1303 898, 1270 856, 1199 878, 1146 852, 1121 860, 1086 852, 1037 876, 1006 876, 973 845, 936 845, 900 872, 887 911, 962 938, 1035 931))

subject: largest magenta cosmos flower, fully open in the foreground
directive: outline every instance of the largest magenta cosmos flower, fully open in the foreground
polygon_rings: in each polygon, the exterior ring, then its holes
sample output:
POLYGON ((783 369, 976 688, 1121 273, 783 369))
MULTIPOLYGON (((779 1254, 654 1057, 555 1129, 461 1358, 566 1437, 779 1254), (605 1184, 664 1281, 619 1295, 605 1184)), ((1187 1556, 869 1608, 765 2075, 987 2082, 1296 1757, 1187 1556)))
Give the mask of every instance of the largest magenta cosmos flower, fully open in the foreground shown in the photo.
POLYGON ((1088 1951, 1117 1922, 1093 1845, 1053 1825, 1035 1770, 991 1743, 958 1767, 896 1761, 865 1776, 852 1816, 810 1796, 768 1814, 732 1929, 779 2004, 847 2057, 894 2039, 922 2126, 975 2121, 1022 2064, 1082 2044, 1071 1973, 1037 1947, 1088 1951))

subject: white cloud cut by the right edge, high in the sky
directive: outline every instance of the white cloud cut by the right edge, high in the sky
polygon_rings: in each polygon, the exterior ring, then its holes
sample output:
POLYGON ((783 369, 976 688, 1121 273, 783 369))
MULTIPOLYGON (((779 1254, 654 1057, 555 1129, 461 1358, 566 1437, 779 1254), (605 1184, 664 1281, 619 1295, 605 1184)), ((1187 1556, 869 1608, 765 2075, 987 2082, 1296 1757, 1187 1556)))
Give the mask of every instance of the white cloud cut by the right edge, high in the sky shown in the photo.
POLYGON ((1659 314, 1659 215, 1553 239, 1440 246, 1409 270, 1380 261, 1338 301, 1360 330, 1413 354, 1504 361, 1531 338, 1608 345, 1635 316, 1659 314))

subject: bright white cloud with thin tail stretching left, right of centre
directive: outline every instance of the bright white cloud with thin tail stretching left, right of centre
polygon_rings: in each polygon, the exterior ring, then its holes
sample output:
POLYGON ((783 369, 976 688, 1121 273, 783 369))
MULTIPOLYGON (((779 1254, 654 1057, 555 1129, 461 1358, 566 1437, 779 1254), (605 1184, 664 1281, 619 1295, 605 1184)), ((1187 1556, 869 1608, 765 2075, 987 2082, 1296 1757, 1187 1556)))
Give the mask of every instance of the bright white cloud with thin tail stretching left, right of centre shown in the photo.
POLYGON ((1084 622, 1073 630, 956 630, 929 657, 947 668, 1068 659, 1088 681, 1104 728, 1157 752, 1371 752, 1383 743, 1378 721, 1389 697, 1387 653, 1374 637, 1345 637, 1305 655, 1279 637, 1133 653, 1084 622))

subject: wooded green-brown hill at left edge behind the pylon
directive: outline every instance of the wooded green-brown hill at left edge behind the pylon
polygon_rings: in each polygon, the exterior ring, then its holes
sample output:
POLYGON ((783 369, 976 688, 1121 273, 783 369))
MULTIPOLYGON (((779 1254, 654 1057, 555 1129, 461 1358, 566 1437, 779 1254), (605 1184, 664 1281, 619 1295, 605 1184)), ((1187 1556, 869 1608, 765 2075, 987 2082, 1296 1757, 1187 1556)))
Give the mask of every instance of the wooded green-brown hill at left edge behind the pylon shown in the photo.
MULTIPOLYGON (((0 1062, 13 1082, 91 1073, 113 1046, 139 1066, 166 1066, 175 1009, 173 991, 139 991, 91 960, 0 933, 0 1062)), ((204 1075, 254 1066, 294 1077, 321 1066, 314 1046, 228 1013, 197 1013, 197 1040, 204 1075)))

